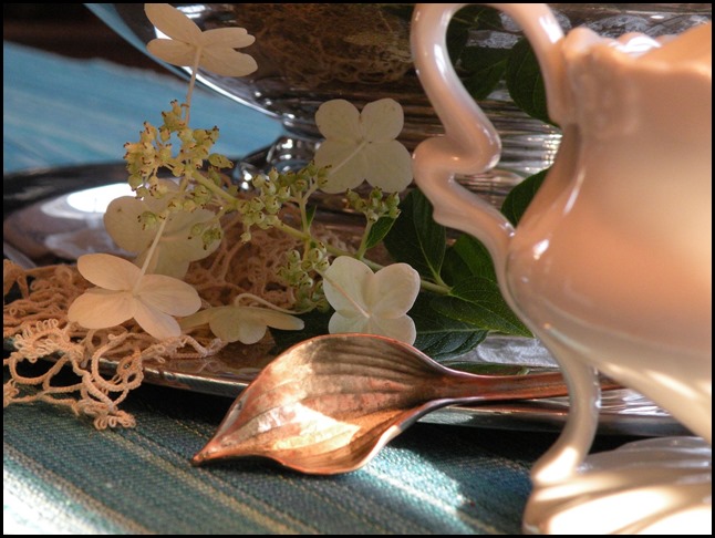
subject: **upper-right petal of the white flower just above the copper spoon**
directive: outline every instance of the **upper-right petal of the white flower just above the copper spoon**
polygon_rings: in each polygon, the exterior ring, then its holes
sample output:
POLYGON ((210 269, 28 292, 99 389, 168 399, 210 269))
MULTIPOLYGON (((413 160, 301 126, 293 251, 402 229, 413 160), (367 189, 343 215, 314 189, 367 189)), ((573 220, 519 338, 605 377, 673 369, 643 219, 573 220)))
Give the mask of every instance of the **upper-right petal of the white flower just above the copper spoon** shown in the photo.
POLYGON ((379 318, 398 318, 407 313, 418 293, 419 273, 407 263, 393 263, 371 279, 367 303, 379 318))

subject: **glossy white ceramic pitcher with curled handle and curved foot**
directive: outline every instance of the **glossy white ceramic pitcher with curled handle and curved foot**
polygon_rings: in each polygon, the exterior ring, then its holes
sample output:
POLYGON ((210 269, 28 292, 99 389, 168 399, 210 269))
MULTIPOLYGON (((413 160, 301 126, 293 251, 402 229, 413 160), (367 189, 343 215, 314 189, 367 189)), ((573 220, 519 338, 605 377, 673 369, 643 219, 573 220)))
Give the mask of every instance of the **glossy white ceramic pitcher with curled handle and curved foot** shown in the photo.
POLYGON ((499 158, 445 32, 464 4, 418 4, 412 48, 444 137, 414 154, 434 218, 488 248, 501 291, 562 366, 567 426, 535 486, 578 473, 598 421, 597 370, 712 444, 712 25, 672 39, 563 35, 546 4, 491 3, 538 56, 563 138, 516 230, 454 180, 499 158))

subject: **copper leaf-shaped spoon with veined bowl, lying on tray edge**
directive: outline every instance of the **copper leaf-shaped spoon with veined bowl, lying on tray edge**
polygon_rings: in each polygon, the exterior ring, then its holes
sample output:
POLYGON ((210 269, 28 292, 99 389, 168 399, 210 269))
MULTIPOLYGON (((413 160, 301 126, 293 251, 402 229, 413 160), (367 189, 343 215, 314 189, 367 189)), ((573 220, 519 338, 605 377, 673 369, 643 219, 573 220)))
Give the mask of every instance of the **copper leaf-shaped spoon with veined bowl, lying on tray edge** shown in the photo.
POLYGON ((265 456, 302 473, 348 473, 438 407, 566 394, 560 373, 476 375, 388 338, 317 337, 263 369, 193 463, 265 456))

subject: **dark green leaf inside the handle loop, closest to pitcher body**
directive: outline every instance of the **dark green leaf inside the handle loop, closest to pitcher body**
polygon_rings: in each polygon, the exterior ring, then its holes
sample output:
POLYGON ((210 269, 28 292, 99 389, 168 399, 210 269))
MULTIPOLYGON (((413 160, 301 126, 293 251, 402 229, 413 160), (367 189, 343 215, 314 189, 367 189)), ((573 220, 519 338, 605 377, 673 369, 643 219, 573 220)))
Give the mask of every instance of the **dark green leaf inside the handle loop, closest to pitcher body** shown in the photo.
POLYGON ((519 40, 511 48, 506 82, 509 95, 519 108, 537 120, 552 123, 547 110, 546 89, 539 62, 526 39, 519 40))

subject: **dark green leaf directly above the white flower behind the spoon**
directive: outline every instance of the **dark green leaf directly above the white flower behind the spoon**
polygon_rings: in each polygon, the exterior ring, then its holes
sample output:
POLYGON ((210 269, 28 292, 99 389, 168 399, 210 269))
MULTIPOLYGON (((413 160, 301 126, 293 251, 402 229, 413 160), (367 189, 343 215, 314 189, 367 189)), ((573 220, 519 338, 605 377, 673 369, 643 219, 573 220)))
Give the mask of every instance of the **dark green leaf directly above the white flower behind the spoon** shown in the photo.
POLYGON ((425 195, 412 190, 400 205, 383 244, 395 261, 410 263, 425 278, 438 280, 447 248, 447 230, 432 218, 433 208, 425 195))

